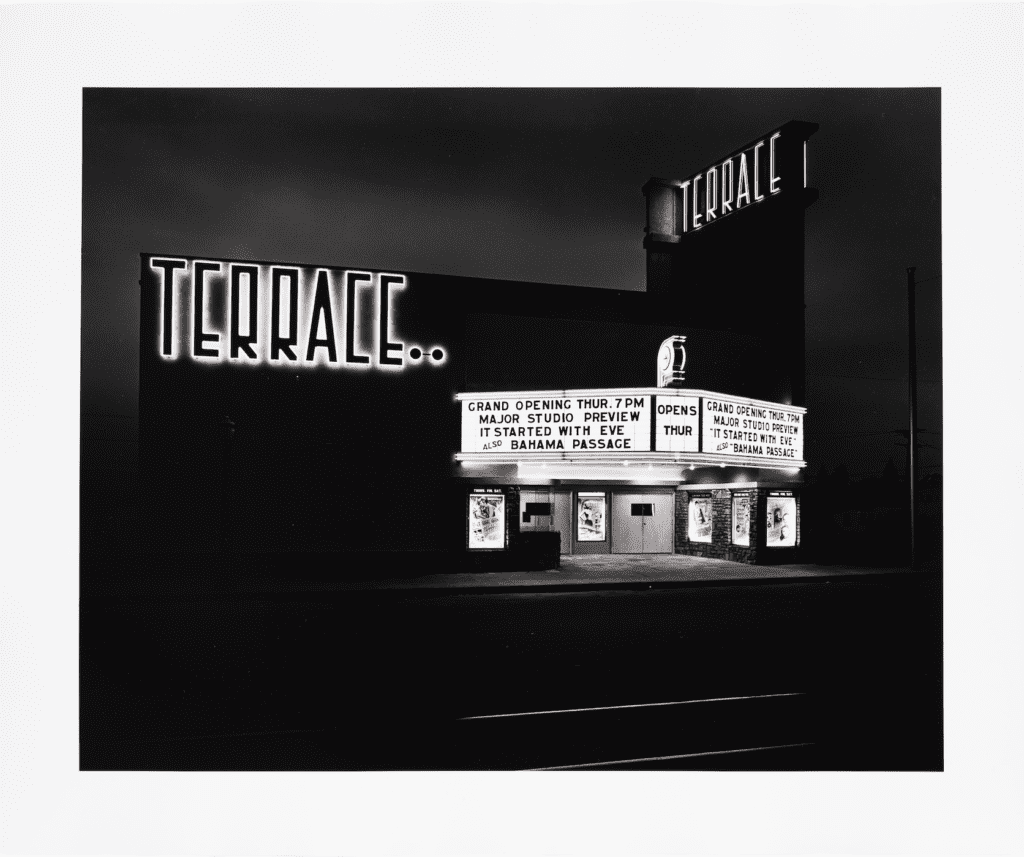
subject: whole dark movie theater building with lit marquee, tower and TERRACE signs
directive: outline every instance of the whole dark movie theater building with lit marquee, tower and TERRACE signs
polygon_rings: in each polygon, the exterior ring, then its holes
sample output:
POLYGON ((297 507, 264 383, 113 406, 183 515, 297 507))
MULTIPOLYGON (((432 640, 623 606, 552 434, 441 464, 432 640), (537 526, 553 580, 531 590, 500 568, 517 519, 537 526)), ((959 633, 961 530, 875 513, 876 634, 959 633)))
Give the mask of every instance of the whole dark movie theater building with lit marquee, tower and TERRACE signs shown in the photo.
POLYGON ((814 130, 648 181, 646 292, 142 254, 150 544, 799 559, 814 130))

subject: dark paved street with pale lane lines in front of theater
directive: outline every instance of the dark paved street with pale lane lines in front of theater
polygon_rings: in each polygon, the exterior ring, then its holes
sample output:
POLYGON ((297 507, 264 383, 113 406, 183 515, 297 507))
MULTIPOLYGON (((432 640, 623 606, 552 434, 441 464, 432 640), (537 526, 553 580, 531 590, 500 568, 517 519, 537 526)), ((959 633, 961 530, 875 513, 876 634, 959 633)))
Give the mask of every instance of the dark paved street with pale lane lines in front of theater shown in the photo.
POLYGON ((939 592, 87 599, 82 767, 936 769, 939 592))

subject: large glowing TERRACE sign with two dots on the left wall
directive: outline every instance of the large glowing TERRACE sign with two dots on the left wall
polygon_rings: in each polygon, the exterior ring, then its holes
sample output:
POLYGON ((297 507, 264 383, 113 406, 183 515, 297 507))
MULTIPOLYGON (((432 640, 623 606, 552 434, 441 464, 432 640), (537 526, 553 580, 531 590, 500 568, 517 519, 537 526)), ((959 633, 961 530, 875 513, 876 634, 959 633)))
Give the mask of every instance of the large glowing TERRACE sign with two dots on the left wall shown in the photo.
POLYGON ((403 274, 173 256, 153 256, 148 267, 160 289, 164 359, 396 371, 447 358, 437 345, 413 345, 394 333, 403 274), (223 307, 217 317, 215 303, 223 307))

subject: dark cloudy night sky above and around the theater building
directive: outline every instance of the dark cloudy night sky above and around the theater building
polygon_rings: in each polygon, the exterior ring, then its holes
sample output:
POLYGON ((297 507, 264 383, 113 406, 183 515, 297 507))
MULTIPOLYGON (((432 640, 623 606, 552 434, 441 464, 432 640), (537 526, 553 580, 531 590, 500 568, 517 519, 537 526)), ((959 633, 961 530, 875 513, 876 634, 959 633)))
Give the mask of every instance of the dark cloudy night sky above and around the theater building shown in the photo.
POLYGON ((640 290, 644 181, 790 119, 820 125, 810 471, 902 470, 908 265, 919 425, 942 428, 938 89, 86 90, 83 465, 129 464, 108 429, 137 411, 141 251, 640 290))

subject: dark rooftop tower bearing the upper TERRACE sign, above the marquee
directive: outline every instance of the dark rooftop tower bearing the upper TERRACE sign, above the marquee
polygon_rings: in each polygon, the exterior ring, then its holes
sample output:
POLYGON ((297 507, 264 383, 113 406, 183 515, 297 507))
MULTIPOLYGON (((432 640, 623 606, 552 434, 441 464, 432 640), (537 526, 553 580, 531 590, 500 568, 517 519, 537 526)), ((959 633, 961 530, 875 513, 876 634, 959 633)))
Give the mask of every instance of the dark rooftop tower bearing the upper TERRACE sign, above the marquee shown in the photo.
POLYGON ((787 122, 684 179, 651 178, 647 292, 692 327, 769 336, 766 360, 788 378, 775 398, 804 404, 804 210, 807 143, 787 122), (788 389, 785 389, 787 386, 788 389))

